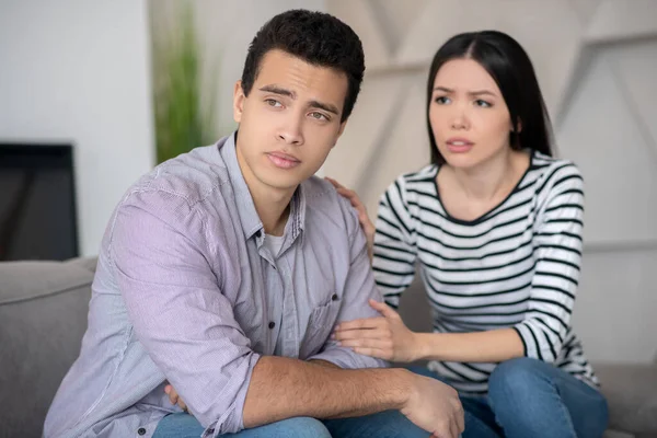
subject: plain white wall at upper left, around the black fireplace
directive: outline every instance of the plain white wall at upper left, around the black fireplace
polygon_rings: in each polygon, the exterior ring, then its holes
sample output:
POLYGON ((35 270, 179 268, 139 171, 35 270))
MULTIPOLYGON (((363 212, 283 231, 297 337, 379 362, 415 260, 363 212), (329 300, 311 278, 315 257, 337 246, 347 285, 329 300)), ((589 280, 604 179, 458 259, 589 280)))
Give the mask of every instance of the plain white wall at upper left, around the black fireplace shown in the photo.
POLYGON ((0 0, 0 141, 74 143, 84 255, 153 164, 149 66, 145 0, 0 0))

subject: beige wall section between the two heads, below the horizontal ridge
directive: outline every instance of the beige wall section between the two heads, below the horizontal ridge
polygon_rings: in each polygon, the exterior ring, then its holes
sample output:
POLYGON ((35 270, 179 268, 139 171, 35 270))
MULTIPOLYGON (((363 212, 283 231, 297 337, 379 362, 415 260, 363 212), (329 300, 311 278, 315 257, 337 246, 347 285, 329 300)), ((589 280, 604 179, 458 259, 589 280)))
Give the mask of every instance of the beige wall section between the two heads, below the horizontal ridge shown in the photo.
POLYGON ((418 169, 428 162, 425 76, 365 81, 357 110, 324 164, 324 175, 359 187, 368 211, 377 211, 379 196, 400 169, 418 169))

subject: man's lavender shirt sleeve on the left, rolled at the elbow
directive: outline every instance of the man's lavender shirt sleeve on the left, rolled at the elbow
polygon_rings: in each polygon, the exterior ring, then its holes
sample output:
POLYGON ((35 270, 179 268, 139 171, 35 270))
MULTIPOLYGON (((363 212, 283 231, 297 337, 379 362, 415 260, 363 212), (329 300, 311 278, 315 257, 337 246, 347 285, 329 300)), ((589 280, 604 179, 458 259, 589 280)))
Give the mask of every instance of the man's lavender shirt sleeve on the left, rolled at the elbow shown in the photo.
POLYGON ((220 290, 206 229, 185 199, 134 193, 116 211, 108 251, 136 337, 216 436, 243 428, 260 356, 220 290))

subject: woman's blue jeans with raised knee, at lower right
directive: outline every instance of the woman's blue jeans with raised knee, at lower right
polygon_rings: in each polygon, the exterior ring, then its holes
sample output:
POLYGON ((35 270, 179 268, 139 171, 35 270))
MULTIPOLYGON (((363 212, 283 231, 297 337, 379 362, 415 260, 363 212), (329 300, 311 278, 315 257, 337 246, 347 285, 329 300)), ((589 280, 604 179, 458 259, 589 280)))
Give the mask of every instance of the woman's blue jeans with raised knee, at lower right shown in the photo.
MULTIPOLYGON (((425 367, 412 371, 441 379, 425 367)), ((541 360, 502 362, 488 381, 488 395, 461 394, 463 438, 600 438, 607 401, 572 374, 541 360)))

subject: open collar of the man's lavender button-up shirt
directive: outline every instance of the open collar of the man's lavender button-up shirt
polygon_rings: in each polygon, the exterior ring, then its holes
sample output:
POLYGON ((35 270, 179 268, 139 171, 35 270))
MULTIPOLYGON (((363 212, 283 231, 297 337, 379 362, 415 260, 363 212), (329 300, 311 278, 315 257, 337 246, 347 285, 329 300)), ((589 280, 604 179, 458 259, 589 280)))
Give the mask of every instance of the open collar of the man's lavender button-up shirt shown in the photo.
MULTIPOLYGON (((223 143, 219 141, 219 154, 223 159, 226 169, 228 170, 228 176, 233 188, 235 196, 235 204, 238 206, 238 214, 240 215, 240 222, 242 231, 244 232, 244 239, 249 240, 254 234, 257 238, 264 238, 265 230, 263 229, 263 222, 257 216, 251 192, 242 175, 242 170, 238 162, 238 154, 235 150, 235 138, 238 131, 234 131, 230 136, 226 137, 223 143)), ((302 188, 302 184, 297 187, 297 191, 292 195, 290 201, 290 216, 285 227, 285 234, 290 235, 291 240, 296 240, 297 237, 303 231, 303 224, 306 221, 306 195, 302 188)))

